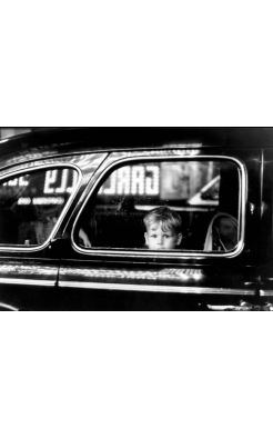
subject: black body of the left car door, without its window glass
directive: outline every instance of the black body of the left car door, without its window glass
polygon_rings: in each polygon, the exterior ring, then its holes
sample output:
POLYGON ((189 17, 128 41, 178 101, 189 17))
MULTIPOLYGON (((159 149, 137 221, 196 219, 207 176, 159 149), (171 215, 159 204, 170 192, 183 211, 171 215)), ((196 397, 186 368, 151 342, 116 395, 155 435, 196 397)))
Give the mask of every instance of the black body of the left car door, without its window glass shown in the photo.
POLYGON ((2 309, 18 310, 55 309, 55 290, 60 267, 60 253, 52 252, 51 240, 63 232, 67 218, 79 202, 94 170, 105 153, 67 156, 17 164, 0 172, 0 178, 13 178, 26 170, 47 170, 51 167, 79 171, 79 181, 71 193, 50 237, 40 246, 0 247, 0 303, 2 309))

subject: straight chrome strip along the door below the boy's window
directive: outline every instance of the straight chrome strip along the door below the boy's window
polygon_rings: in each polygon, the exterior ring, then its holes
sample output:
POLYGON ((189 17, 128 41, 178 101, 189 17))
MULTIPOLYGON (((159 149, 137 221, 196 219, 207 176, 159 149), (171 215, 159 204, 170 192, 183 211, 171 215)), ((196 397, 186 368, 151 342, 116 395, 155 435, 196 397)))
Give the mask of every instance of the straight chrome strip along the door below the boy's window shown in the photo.
POLYGON ((169 287, 169 286, 143 286, 135 283, 105 283, 105 282, 59 282, 61 288, 82 288, 91 290, 122 290, 122 291, 146 291, 146 292, 178 292, 183 295, 237 295, 255 296, 255 290, 240 290, 234 288, 206 288, 206 287, 169 287))

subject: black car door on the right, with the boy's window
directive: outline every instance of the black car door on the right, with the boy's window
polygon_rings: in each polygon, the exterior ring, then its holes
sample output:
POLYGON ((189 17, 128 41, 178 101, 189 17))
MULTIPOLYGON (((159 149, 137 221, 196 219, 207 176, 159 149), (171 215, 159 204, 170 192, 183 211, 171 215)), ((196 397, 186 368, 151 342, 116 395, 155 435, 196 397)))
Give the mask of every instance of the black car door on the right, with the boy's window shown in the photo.
POLYGON ((253 231, 260 218, 260 159, 257 149, 189 142, 112 152, 71 218, 70 238, 62 243, 58 307, 253 309, 259 301, 259 237, 253 231), (145 248, 143 217, 159 204, 181 214, 182 248, 145 248), (236 242, 213 248, 223 214, 235 225, 236 242))

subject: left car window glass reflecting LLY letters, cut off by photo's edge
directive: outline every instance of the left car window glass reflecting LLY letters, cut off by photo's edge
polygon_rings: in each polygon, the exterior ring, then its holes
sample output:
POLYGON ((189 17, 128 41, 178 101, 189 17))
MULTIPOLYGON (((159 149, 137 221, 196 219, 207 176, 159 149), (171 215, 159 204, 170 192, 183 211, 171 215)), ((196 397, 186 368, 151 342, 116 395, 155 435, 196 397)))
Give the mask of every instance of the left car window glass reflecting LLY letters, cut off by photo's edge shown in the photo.
POLYGON ((0 246, 48 240, 78 182, 69 168, 40 169, 0 181, 0 246))

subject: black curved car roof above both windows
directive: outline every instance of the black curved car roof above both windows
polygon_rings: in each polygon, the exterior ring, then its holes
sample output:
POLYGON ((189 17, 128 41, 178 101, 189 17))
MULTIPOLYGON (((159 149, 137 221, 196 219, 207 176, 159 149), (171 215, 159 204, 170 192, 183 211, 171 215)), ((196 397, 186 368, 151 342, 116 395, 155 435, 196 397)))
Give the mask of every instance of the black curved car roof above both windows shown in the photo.
POLYGON ((1 166, 7 158, 47 151, 53 156, 68 152, 119 151, 164 148, 273 148, 273 128, 54 128, 0 141, 1 166))

